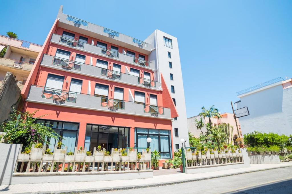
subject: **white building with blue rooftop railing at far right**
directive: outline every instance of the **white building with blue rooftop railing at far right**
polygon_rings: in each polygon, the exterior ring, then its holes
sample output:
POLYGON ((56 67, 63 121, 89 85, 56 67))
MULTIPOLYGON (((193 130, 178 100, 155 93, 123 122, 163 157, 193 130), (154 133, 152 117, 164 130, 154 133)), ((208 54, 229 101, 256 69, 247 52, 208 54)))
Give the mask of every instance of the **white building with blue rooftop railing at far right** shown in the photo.
POLYGON ((247 107, 240 117, 243 133, 253 131, 292 134, 292 79, 281 77, 237 92, 235 109, 247 107))

